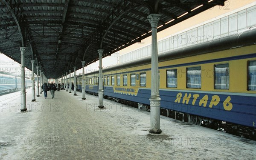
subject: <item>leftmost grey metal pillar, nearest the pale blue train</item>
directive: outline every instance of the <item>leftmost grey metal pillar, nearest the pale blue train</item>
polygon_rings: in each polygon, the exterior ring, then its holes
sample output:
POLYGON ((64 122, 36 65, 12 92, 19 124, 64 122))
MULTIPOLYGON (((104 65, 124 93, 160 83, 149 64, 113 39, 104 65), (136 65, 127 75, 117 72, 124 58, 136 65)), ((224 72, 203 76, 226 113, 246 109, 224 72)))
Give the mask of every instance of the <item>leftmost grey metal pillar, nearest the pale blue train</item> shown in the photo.
POLYGON ((26 111, 26 84, 25 84, 25 51, 26 47, 20 47, 21 52, 21 91, 20 91, 20 111, 26 111))

